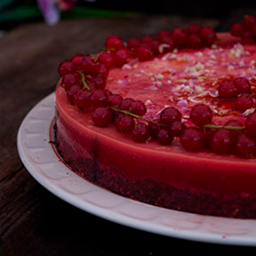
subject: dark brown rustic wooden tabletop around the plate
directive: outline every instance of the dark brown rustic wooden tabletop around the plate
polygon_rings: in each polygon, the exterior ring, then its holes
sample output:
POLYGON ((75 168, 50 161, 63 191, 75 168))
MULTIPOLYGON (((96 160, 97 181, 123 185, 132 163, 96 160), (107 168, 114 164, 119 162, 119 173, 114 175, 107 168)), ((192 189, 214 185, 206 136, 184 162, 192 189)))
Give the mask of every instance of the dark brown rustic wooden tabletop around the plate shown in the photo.
POLYGON ((62 59, 78 52, 100 51, 104 38, 112 33, 127 39, 191 23, 221 31, 229 22, 144 15, 62 20, 54 27, 22 25, 0 38, 1 255, 166 255, 173 251, 183 255, 188 249, 202 255, 251 253, 248 247, 163 237, 90 215, 39 185, 23 166, 16 148, 20 123, 40 99, 54 91, 62 59))

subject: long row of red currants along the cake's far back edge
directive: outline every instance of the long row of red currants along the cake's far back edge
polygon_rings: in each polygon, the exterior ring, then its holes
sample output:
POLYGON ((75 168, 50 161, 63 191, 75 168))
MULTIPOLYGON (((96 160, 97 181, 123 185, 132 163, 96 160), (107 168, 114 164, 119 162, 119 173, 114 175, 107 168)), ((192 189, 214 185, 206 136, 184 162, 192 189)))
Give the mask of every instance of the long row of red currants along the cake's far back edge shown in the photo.
MULTIPOLYGON (((126 47, 122 39, 117 35, 110 35, 105 40, 108 53, 102 53, 99 58, 110 59, 111 65, 122 67, 130 59, 137 57, 140 61, 151 60, 154 56, 173 51, 175 48, 194 48, 211 46, 217 36, 210 27, 190 25, 187 29, 175 28, 173 31, 163 30, 154 36, 143 36, 142 38, 131 38, 126 47)), ((109 61, 108 61, 109 62, 109 61)))

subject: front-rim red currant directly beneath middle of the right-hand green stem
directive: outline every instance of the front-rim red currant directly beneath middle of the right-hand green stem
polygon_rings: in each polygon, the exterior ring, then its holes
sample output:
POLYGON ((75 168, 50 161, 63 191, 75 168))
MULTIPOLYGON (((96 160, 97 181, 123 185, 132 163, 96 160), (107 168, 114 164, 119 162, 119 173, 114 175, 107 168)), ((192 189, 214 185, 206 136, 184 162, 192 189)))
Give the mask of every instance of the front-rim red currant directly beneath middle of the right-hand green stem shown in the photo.
POLYGON ((229 154, 233 147, 233 138, 230 130, 219 129, 210 141, 211 150, 219 154, 229 154))

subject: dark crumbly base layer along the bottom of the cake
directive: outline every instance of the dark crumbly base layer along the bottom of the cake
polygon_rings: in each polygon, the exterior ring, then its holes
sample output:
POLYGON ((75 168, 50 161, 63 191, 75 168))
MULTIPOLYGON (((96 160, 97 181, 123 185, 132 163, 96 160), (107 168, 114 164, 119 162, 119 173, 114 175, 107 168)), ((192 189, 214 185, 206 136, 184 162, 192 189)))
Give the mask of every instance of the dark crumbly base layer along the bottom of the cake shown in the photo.
MULTIPOLYGON (((56 126, 55 126, 56 127, 56 126)), ((75 173, 116 194, 144 203, 202 215, 256 219, 256 198, 221 196, 200 189, 181 189, 150 179, 127 178, 115 167, 100 169, 97 159, 78 159, 72 147, 57 132, 56 146, 75 173)))

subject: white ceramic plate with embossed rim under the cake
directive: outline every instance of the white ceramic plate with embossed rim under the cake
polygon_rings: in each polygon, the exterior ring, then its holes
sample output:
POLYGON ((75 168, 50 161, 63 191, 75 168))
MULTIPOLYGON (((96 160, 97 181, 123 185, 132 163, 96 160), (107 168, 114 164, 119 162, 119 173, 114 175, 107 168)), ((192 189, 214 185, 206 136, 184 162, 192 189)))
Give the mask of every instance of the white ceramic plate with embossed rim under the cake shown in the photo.
POLYGON ((18 152, 29 173, 54 195, 101 218, 165 236, 256 246, 256 220, 189 214, 130 200, 74 174, 49 143, 54 94, 40 101, 20 125, 18 152))

